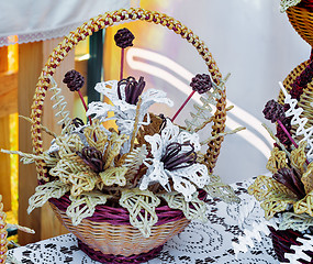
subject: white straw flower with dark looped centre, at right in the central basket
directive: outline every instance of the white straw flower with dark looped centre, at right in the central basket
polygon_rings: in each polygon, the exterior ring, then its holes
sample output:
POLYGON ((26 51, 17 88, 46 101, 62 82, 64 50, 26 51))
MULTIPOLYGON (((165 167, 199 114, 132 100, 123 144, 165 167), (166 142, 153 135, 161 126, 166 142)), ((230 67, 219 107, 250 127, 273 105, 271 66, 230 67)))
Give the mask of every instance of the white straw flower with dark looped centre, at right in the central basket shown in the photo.
POLYGON ((145 140, 150 144, 153 157, 144 161, 147 172, 139 184, 141 189, 159 183, 167 191, 171 191, 171 178, 174 189, 182 194, 186 201, 190 201, 197 187, 203 188, 209 184, 206 166, 195 163, 195 152, 201 147, 197 133, 180 132, 177 125, 167 120, 160 134, 146 135, 145 140))

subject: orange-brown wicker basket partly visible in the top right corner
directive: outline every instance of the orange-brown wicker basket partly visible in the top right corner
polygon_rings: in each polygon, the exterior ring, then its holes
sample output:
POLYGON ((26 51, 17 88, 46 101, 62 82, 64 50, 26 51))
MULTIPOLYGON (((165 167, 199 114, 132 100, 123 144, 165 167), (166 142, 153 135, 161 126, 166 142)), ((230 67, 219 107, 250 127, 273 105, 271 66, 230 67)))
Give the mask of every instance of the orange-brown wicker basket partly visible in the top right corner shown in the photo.
POLYGON ((313 12, 298 6, 287 9, 286 12, 298 34, 313 46, 313 12))

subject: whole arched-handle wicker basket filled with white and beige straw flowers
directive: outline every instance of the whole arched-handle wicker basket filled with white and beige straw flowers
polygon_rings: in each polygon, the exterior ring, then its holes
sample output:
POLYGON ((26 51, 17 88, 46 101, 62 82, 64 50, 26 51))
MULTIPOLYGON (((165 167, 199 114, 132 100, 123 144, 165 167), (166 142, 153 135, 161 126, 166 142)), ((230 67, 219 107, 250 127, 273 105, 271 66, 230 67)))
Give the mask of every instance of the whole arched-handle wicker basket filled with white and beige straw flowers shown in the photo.
MULTIPOLYGON (((115 34, 122 58, 134 37, 127 29, 115 34)), ((81 95, 83 77, 79 73, 69 70, 64 82, 81 95)), ((29 212, 49 201, 58 219, 78 238, 80 249, 96 261, 142 263, 153 258, 192 219, 206 220, 206 195, 238 201, 233 189, 213 175, 224 135, 241 130, 225 131, 231 108, 226 108, 224 82, 205 44, 163 13, 119 10, 70 32, 52 52, 38 78, 29 119, 34 153, 7 151, 21 155, 24 163, 36 163, 40 185, 30 198, 29 212), (209 73, 191 80, 190 97, 201 94, 202 106, 194 107, 186 127, 174 122, 181 108, 171 119, 149 113, 153 103, 172 106, 172 101, 164 91, 146 89, 144 77, 123 77, 122 65, 120 80, 99 82, 94 88, 112 103, 86 106, 82 99, 87 123, 69 118, 54 73, 78 42, 126 20, 166 26, 194 46, 206 64, 209 73), (56 118, 63 127, 59 135, 41 123, 47 91, 53 92, 56 118), (114 120, 116 128, 105 128, 108 120, 114 120), (204 127, 211 127, 211 134, 200 142, 197 132, 204 127), (54 136, 49 150, 43 150, 43 131, 54 136)))

